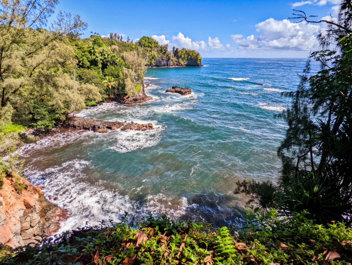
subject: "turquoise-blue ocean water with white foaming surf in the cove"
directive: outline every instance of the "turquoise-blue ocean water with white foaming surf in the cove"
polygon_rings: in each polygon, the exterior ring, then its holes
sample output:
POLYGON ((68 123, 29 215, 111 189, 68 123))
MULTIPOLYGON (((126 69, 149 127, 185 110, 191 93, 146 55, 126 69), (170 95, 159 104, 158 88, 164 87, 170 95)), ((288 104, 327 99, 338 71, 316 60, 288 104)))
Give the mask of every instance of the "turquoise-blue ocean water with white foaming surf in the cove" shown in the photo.
POLYGON ((152 122, 155 130, 45 138, 21 151, 25 174, 68 209, 62 230, 117 219, 125 211, 137 220, 150 213, 230 220, 232 207, 246 201, 233 195, 236 181, 275 181, 278 175, 276 150, 285 124, 273 115, 287 107, 280 93, 295 90, 305 62, 205 58, 204 67, 148 69, 152 101, 104 103, 77 115, 152 122), (193 93, 165 93, 175 85, 193 93))

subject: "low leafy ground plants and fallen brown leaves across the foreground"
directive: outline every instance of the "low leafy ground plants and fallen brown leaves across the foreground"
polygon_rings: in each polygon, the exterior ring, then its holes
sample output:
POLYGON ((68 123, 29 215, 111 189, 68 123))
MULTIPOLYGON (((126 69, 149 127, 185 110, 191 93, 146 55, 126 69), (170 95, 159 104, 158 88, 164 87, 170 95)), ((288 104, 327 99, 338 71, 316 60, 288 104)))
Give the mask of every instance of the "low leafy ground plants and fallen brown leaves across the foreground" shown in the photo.
POLYGON ((21 247, 0 264, 350 264, 352 229, 334 221, 314 225, 306 215, 282 219, 252 207, 238 215, 242 227, 230 229, 166 216, 150 216, 136 229, 125 216, 21 247))

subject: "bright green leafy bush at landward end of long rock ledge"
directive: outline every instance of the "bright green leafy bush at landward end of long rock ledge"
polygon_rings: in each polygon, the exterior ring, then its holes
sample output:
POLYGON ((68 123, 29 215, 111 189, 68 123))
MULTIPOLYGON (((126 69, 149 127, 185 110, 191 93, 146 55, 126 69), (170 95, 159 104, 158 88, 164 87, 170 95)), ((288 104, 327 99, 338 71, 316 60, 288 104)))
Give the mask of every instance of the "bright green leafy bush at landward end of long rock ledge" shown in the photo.
POLYGON ((64 121, 68 114, 66 109, 57 109, 47 101, 34 100, 30 105, 33 108, 30 111, 30 115, 32 115, 31 127, 35 128, 51 129, 64 121))

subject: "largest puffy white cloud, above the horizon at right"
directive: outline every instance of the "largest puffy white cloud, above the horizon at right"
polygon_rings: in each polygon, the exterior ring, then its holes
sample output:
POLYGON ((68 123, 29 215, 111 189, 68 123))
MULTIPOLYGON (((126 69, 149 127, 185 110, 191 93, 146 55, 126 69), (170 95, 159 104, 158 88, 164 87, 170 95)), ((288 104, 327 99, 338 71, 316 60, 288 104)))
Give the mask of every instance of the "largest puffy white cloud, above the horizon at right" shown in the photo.
POLYGON ((240 48, 247 50, 305 51, 314 49, 318 44, 314 34, 320 29, 319 25, 269 18, 258 23, 256 27, 259 36, 252 34, 241 39, 243 36, 236 34, 231 35, 231 39, 240 48))

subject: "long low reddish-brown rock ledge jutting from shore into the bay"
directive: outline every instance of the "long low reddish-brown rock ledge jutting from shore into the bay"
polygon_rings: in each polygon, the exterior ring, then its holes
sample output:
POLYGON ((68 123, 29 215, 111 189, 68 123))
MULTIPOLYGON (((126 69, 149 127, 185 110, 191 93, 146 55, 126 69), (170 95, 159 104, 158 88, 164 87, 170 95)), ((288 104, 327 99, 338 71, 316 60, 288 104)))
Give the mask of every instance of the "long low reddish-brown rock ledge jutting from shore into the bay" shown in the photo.
POLYGON ((80 130, 89 130, 98 133, 108 132, 108 130, 121 129, 124 130, 137 130, 137 131, 146 131, 153 129, 151 123, 148 124, 138 124, 131 122, 120 122, 120 121, 103 121, 103 120, 94 120, 86 119, 77 116, 68 116, 63 127, 66 128, 76 128, 80 130))

